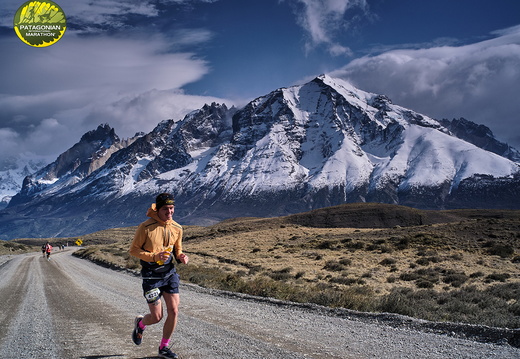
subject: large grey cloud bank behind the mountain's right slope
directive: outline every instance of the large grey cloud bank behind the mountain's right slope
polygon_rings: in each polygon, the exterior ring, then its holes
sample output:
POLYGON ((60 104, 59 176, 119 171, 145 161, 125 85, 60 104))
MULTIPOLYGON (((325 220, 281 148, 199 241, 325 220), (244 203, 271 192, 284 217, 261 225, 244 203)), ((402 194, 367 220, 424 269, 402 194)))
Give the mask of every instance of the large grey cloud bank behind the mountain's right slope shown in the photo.
POLYGON ((520 26, 464 46, 392 50, 331 73, 434 118, 464 117, 520 148, 520 26))

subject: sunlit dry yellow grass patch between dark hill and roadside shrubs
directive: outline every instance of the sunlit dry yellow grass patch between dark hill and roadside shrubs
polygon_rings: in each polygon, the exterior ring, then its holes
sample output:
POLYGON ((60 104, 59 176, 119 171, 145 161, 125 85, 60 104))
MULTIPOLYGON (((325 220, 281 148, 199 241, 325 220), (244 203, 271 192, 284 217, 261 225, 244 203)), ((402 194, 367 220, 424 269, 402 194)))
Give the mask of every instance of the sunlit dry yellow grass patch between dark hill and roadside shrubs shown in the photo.
MULTIPOLYGON (((508 223, 503 227, 511 235, 494 238, 495 243, 518 243, 520 232, 510 230, 515 220, 501 223, 508 223)), ((493 284, 489 281, 493 273, 508 273, 508 282, 520 282, 520 263, 513 261, 518 248, 508 257, 490 255, 485 246, 489 246, 489 239, 458 236, 460 227, 469 225, 489 228, 489 223, 477 220, 411 228, 354 229, 310 228, 248 219, 239 226, 223 223, 193 232, 187 229, 185 249, 191 254, 192 263, 231 272, 256 267, 251 277, 290 268, 293 275, 299 273, 295 283, 332 282, 336 287, 363 284, 379 295, 388 294, 396 286, 416 288, 414 281, 400 279, 401 276, 428 268, 436 268, 439 273, 463 273, 470 277, 465 286, 476 285, 480 289, 493 284), (403 248, 400 242, 406 239, 408 244, 403 248)), ((494 237, 499 234, 494 232, 494 237)), ((442 280, 431 288, 454 289, 442 280)))

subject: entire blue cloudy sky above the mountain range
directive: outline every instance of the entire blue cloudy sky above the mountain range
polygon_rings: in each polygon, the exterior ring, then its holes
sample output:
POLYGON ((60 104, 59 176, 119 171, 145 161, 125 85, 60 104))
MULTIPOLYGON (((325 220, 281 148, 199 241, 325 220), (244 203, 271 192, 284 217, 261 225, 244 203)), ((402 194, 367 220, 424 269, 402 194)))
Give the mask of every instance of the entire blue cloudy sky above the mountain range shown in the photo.
POLYGON ((0 4, 0 170, 52 162, 100 124, 121 138, 205 103, 238 107, 327 73, 520 149, 518 0, 57 0, 24 44, 0 4))

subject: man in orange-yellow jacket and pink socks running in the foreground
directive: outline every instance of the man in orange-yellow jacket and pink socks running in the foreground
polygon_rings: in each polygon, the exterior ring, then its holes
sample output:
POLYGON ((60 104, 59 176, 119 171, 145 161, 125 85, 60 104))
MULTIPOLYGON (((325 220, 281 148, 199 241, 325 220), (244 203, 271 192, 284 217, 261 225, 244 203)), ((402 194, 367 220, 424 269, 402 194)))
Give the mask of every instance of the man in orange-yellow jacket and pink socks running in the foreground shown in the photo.
POLYGON ((150 219, 141 223, 135 232, 130 254, 141 260, 143 294, 150 310, 150 313, 135 318, 132 340, 140 345, 146 326, 161 321, 163 297, 167 317, 159 344, 159 356, 176 359, 177 354, 169 348, 170 337, 177 325, 180 302, 179 275, 173 260, 188 264, 189 258, 182 253, 182 227, 172 219, 174 204, 173 196, 169 193, 157 196, 146 213, 150 219))

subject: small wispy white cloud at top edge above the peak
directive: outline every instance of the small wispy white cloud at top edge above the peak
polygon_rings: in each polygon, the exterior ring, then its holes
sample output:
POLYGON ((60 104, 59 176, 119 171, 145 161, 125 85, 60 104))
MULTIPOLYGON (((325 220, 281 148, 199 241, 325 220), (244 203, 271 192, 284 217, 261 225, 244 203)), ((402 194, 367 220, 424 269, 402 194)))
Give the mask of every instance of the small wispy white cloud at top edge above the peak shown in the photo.
POLYGON ((325 45, 333 56, 350 56, 352 51, 340 45, 336 33, 348 28, 345 19, 347 10, 359 8, 368 11, 366 0, 293 0, 296 7, 298 24, 308 33, 310 40, 306 43, 306 51, 319 45, 325 45))

